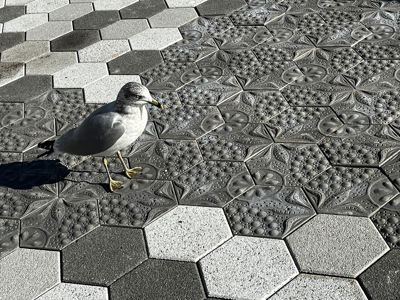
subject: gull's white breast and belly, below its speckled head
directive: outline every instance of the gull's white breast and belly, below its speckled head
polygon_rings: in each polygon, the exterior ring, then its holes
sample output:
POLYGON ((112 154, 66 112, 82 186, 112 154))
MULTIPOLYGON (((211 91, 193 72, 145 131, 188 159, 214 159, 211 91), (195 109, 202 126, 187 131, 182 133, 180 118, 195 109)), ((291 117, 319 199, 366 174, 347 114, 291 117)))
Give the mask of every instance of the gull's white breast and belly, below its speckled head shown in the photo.
POLYGON ((142 112, 140 111, 140 108, 137 108, 137 112, 135 111, 134 113, 124 117, 122 123, 126 126, 125 133, 116 141, 113 146, 111 146, 104 152, 94 154, 95 156, 113 155, 118 150, 121 150, 136 141, 138 137, 143 133, 144 128, 147 124, 146 106, 142 107, 142 112))

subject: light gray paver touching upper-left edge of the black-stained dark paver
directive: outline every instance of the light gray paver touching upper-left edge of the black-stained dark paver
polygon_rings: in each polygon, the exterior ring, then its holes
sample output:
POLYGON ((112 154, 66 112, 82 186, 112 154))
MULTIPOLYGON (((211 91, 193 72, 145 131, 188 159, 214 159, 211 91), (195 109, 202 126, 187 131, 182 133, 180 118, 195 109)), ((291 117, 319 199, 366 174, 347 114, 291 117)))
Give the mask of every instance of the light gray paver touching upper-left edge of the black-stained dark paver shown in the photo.
POLYGON ((28 30, 26 40, 50 41, 72 30, 72 21, 50 21, 28 30))

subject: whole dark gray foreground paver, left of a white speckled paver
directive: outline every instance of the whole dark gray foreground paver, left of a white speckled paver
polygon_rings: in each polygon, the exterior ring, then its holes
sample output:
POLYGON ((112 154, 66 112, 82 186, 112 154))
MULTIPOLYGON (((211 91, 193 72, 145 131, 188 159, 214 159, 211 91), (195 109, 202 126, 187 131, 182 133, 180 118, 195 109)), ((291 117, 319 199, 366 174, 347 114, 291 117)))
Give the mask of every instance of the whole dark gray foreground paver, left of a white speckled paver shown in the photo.
POLYGON ((101 226, 62 250, 62 281, 108 286, 146 259, 142 230, 101 226))

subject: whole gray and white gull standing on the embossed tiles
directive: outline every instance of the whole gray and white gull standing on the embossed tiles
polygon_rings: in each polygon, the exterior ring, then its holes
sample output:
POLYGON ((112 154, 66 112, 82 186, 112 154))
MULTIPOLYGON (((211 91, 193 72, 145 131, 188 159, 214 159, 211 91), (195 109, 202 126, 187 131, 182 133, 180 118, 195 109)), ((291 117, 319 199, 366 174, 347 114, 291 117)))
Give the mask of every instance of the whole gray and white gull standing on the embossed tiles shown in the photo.
POLYGON ((120 150, 132 144, 143 133, 147 123, 145 104, 164 109, 152 98, 146 86, 128 82, 121 88, 116 101, 92 112, 78 127, 68 130, 57 140, 40 142, 38 148, 48 151, 37 158, 62 153, 103 156, 110 190, 114 192, 122 187, 123 182, 112 180, 106 156, 116 153, 124 167, 126 177, 132 178, 141 174, 141 167, 128 169, 122 160, 120 150))

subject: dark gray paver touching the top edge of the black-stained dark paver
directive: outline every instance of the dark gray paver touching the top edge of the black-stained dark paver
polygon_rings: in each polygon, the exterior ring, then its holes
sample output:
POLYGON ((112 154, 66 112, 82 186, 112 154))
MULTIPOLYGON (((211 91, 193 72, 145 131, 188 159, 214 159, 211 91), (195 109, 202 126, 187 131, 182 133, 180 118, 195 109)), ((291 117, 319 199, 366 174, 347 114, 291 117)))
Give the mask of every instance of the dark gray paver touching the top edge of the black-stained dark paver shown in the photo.
POLYGON ((118 10, 95 10, 74 21, 74 30, 101 29, 121 20, 118 10))

